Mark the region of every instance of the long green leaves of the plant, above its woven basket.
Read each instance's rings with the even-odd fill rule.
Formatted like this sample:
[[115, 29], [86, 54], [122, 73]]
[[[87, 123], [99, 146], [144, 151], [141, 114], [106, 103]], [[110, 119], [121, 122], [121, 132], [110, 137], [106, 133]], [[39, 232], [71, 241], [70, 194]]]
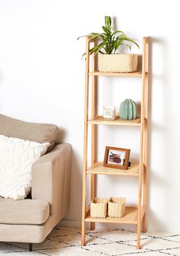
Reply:
[[[126, 45], [131, 50], [131, 45], [126, 44], [126, 42], [136, 44], [136, 46], [139, 48], [139, 45], [136, 43], [136, 41], [127, 38], [126, 34], [124, 34], [123, 31], [112, 31], [110, 16], [105, 16], [105, 26], [103, 26], [102, 28], [103, 33], [90, 33], [79, 37], [89, 37], [90, 40], [100, 38], [97, 46], [90, 49], [90, 54], [115, 54], [121, 45]], [[79, 38], [77, 38], [77, 40]]]

